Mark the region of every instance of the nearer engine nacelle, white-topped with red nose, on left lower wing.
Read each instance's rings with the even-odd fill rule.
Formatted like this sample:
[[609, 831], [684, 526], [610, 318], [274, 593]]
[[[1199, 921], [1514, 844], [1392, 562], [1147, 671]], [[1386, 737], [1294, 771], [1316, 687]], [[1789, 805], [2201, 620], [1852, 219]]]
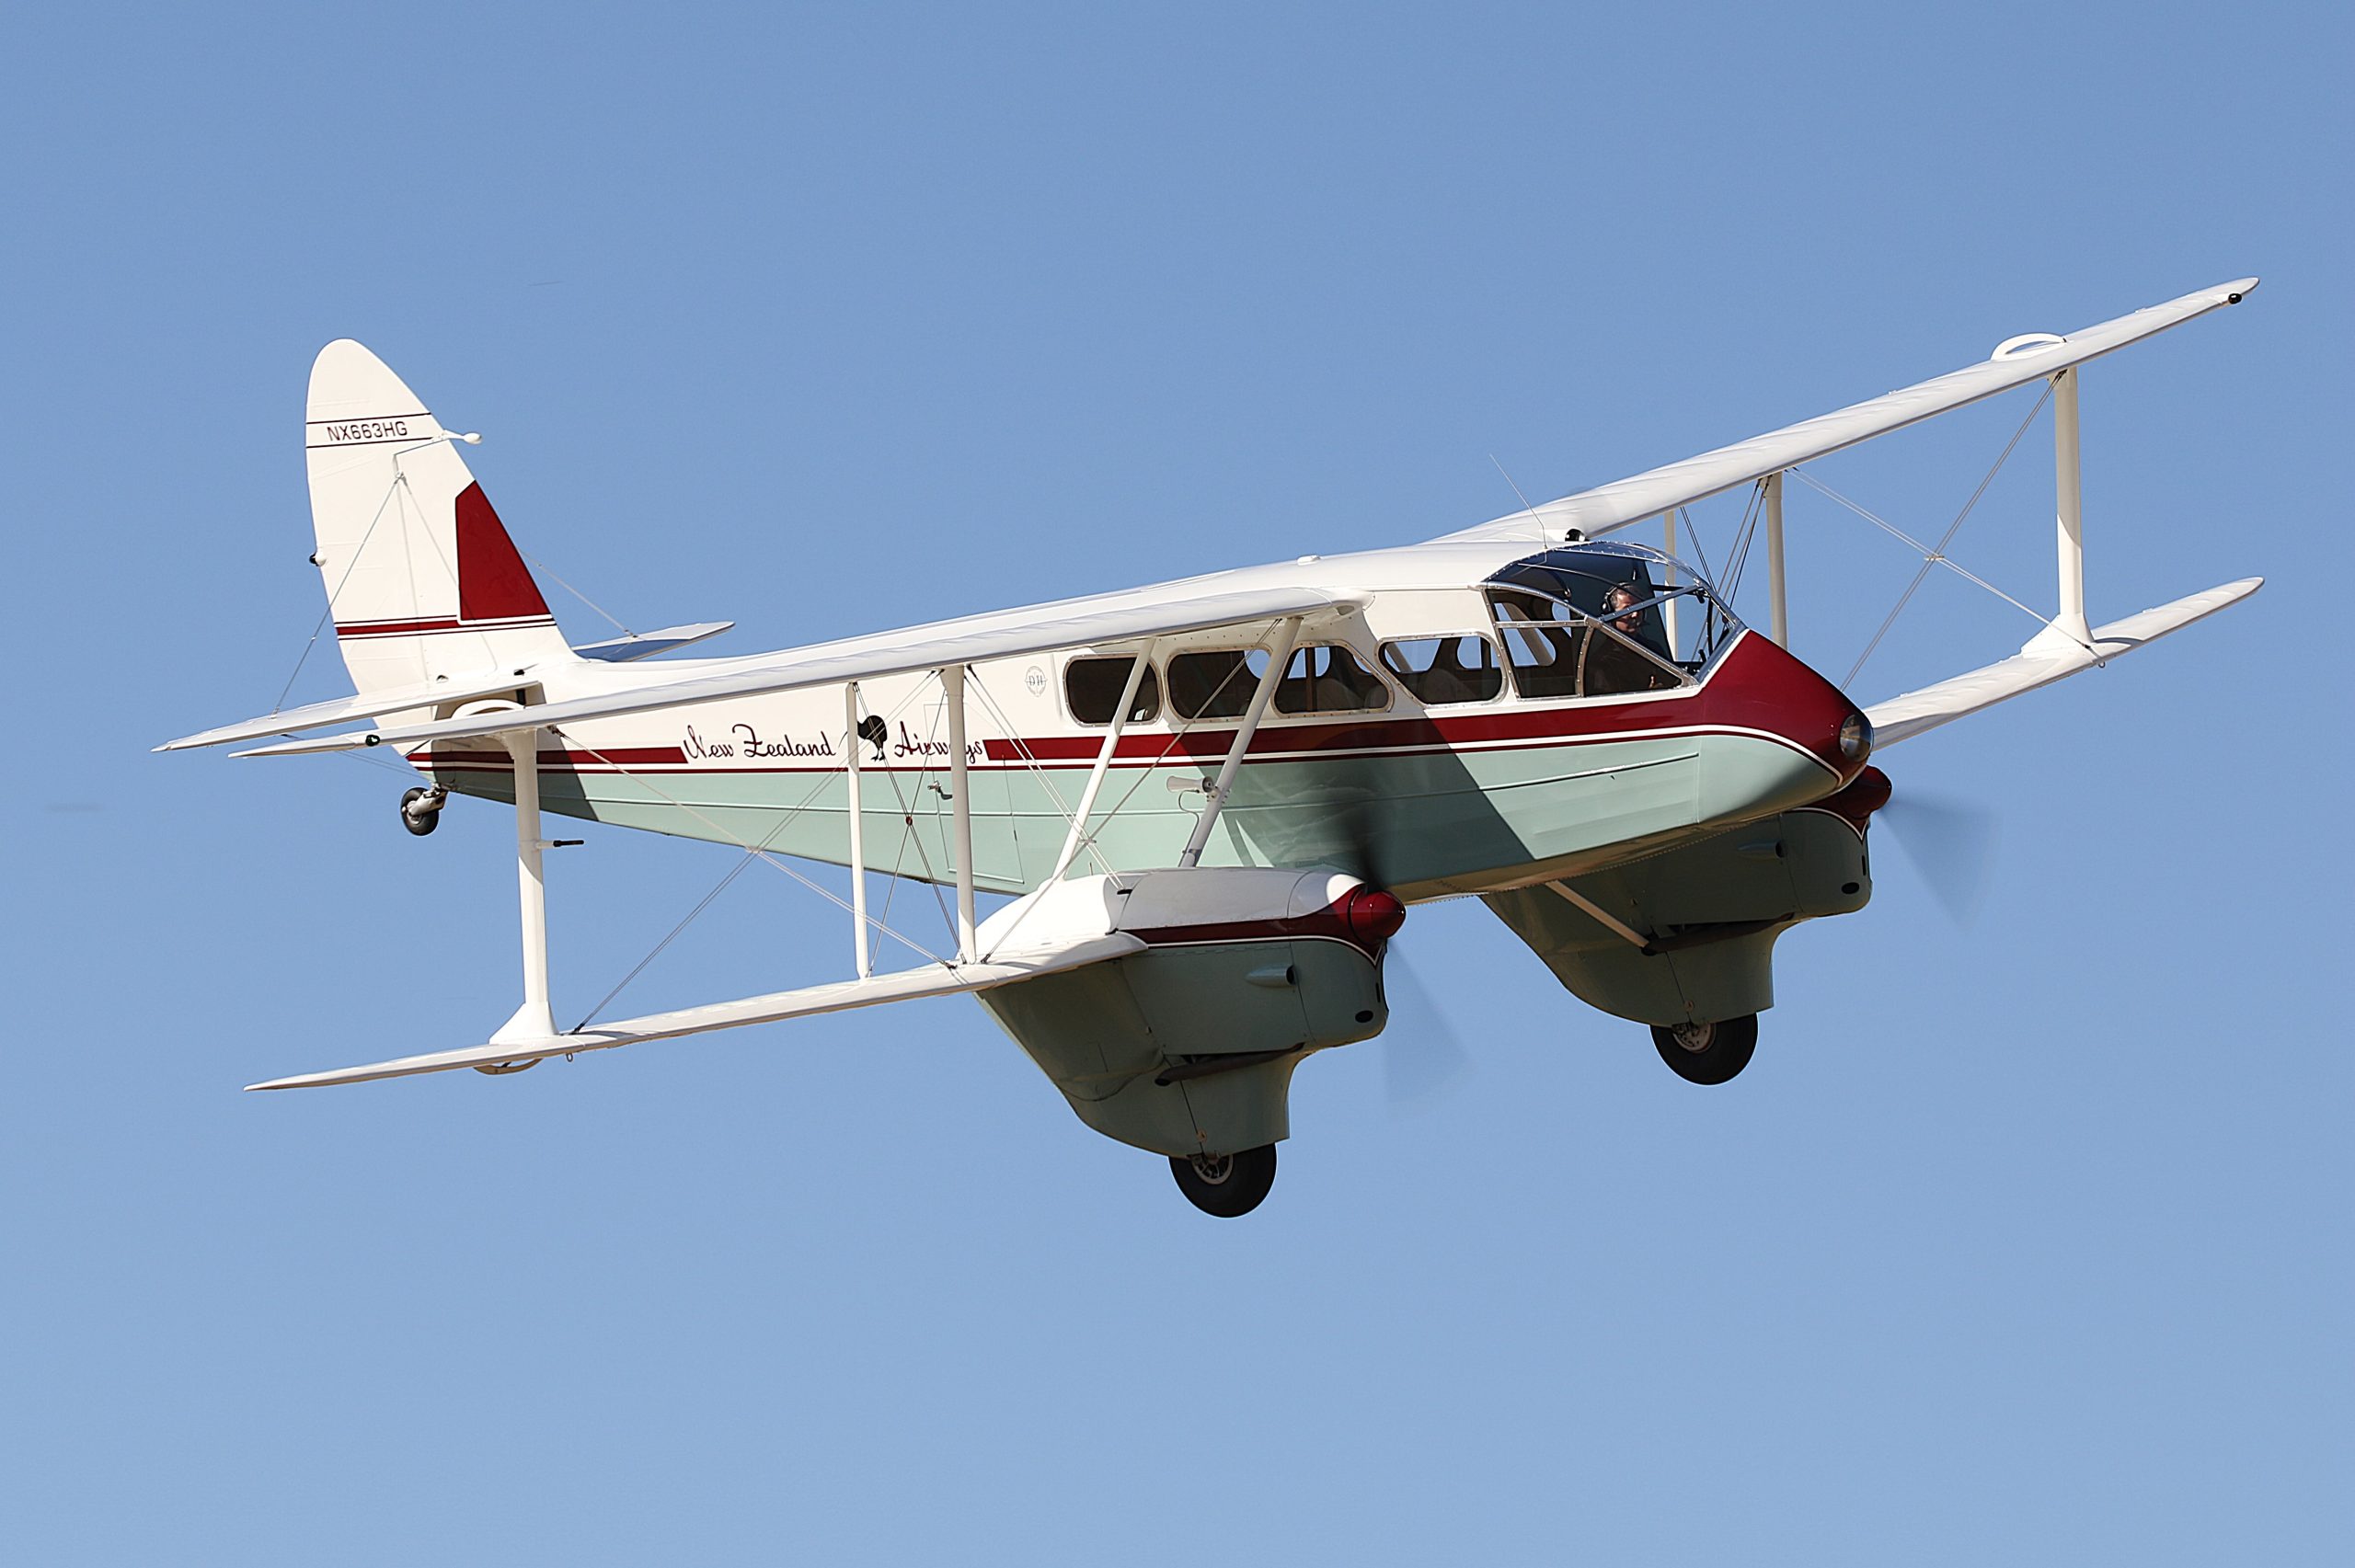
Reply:
[[1236, 1154], [1291, 1130], [1293, 1069], [1389, 1022], [1382, 949], [1406, 906], [1354, 876], [1196, 866], [1086, 876], [1020, 899], [980, 951], [1107, 932], [1145, 951], [980, 994], [1097, 1132]]

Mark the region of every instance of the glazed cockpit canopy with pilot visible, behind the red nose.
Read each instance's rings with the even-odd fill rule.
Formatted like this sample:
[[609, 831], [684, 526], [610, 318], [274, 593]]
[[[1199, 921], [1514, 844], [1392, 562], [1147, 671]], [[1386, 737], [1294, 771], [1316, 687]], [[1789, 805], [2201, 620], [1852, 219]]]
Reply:
[[[1670, 586], [1674, 584], [1674, 586]], [[1646, 544], [1590, 539], [1524, 556], [1486, 582], [1524, 697], [1616, 697], [1689, 685], [1740, 622], [1707, 582]], [[1670, 605], [1684, 605], [1670, 626]], [[1679, 633], [1691, 657], [1679, 657]]]

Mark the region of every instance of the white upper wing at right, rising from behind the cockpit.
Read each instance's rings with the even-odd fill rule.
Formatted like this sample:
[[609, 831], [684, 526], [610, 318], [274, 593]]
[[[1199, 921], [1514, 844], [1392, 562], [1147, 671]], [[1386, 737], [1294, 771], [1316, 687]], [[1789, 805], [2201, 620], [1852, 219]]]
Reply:
[[[1658, 518], [1672, 506], [1689, 506], [1722, 490], [1747, 485], [1750, 480], [1813, 461], [1842, 447], [1853, 447], [1858, 440], [1872, 440], [1875, 436], [1900, 431], [1919, 419], [1957, 410], [1964, 403], [1978, 403], [1981, 398], [1992, 398], [1995, 393], [2011, 391], [2014, 386], [2039, 381], [2056, 370], [2068, 370], [2070, 365], [2082, 365], [2096, 356], [2110, 353], [2112, 348], [2124, 348], [2127, 344], [2141, 341], [2152, 332], [2178, 327], [2195, 315], [2207, 315], [2209, 311], [2240, 304], [2254, 287], [2256, 278], [2242, 278], [2240, 283], [2225, 283], [2214, 290], [2202, 290], [2200, 294], [2169, 299], [2167, 304], [2136, 311], [2134, 315], [2105, 320], [2098, 327], [2087, 327], [2084, 332], [2070, 332], [2058, 341], [2046, 339], [2028, 344], [2014, 353], [1997, 351], [1995, 358], [1978, 365], [1964, 365], [1962, 370], [1943, 374], [1936, 381], [1922, 381], [1919, 386], [1868, 398], [1865, 403], [1856, 403], [1832, 414], [1818, 414], [1816, 419], [1804, 419], [1780, 431], [1738, 440], [1731, 447], [1717, 447], [1714, 452], [1703, 452], [1700, 457], [1686, 457], [1684, 461], [1667, 464], [1665, 469], [1597, 485], [1594, 490], [1580, 490], [1578, 494], [1559, 501], [1517, 511], [1512, 516], [1495, 518], [1493, 523], [1481, 523], [1479, 527], [1467, 527], [1446, 537], [1526, 539], [1543, 530], [1547, 539], [1559, 539], [1573, 527], [1585, 532], [1590, 539], [1594, 534], [1608, 534], [1611, 530], [1627, 527], [1630, 523]], [[2014, 344], [2018, 341], [2021, 339], [2014, 339]]]

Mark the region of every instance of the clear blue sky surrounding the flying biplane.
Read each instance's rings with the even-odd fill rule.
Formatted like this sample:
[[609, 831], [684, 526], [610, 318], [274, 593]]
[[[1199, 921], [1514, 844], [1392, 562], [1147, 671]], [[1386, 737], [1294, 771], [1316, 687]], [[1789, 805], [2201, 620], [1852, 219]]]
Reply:
[[[19, 7], [9, 1556], [2348, 1561], [2348, 24], [1583, 9]], [[1988, 899], [1879, 855], [1729, 1088], [1448, 904], [1477, 1069], [1319, 1057], [1248, 1222], [968, 1003], [238, 1095], [513, 1005], [499, 810], [146, 751], [318, 617], [332, 337], [747, 652], [1429, 537], [1491, 454], [1561, 494], [2242, 273], [2084, 379], [2091, 591], [2270, 586], [1889, 753], [1999, 815]], [[1820, 471], [1938, 530], [2025, 410]], [[2037, 603], [2049, 452], [1957, 544]], [[1912, 563], [1792, 530], [1842, 676]], [[1941, 579], [1856, 692], [2028, 631]], [[730, 859], [568, 852], [560, 1003]], [[754, 873], [631, 1001], [843, 944]]]

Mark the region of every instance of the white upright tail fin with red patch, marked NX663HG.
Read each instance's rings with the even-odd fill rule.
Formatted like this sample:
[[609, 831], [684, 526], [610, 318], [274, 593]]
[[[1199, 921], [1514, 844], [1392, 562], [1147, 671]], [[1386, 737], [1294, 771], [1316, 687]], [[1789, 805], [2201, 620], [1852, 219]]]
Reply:
[[575, 657], [459, 440], [360, 344], [320, 348], [304, 412], [311, 560], [363, 697]]

